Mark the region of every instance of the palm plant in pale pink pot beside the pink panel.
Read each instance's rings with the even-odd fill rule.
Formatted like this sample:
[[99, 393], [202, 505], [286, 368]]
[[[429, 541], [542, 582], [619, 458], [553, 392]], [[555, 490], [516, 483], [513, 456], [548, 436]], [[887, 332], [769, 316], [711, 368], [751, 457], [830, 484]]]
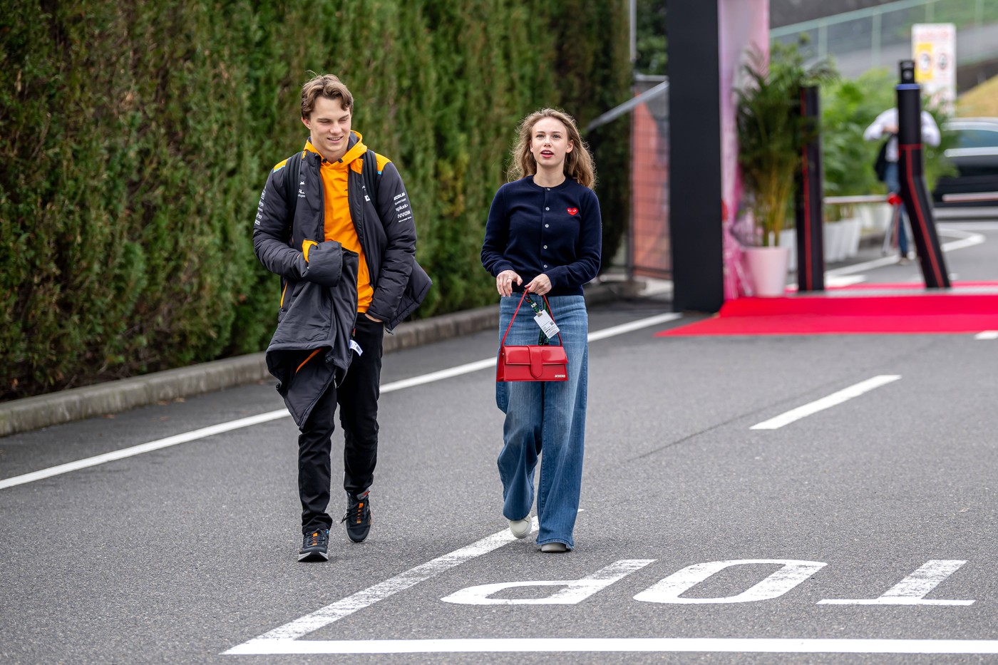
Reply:
[[803, 143], [816, 131], [800, 115], [800, 89], [835, 77], [827, 60], [807, 64], [798, 45], [774, 43], [769, 57], [749, 53], [738, 90], [739, 165], [755, 223], [746, 261], [758, 296], [783, 293], [790, 249], [779, 247]]

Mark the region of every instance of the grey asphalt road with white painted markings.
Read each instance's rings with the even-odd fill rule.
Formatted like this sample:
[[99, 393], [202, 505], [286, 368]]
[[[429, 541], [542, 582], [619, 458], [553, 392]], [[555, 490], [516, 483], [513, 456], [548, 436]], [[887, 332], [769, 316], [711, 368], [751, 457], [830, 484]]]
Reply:
[[[998, 225], [944, 230], [998, 281]], [[654, 336], [697, 320], [669, 312], [590, 312], [567, 554], [501, 514], [494, 332], [385, 357], [373, 528], [325, 563], [269, 382], [0, 439], [0, 661], [998, 659], [995, 335]]]

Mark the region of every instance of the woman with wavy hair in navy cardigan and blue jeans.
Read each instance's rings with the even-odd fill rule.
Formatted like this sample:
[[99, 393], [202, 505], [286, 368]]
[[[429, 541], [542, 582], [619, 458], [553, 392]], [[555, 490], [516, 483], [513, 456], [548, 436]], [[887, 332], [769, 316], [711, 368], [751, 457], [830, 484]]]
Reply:
[[[533, 295], [528, 298], [546, 296], [568, 356], [568, 380], [496, 383], [496, 403], [506, 414], [497, 462], [503, 515], [514, 536], [530, 533], [540, 456], [537, 543], [543, 552], [565, 552], [575, 547], [582, 488], [589, 352], [582, 287], [600, 268], [600, 202], [593, 159], [563, 111], [542, 109], [524, 118], [512, 157], [510, 182], [492, 201], [481, 253], [502, 297], [499, 334], [524, 291]], [[543, 299], [536, 302], [543, 307]], [[507, 344], [538, 342], [530, 314], [516, 317]]]

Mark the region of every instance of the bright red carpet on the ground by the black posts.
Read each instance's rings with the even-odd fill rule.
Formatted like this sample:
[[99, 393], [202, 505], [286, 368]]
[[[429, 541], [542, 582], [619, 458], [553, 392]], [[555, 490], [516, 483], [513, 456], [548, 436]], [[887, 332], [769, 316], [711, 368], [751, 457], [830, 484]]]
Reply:
[[740, 298], [713, 319], [657, 336], [983, 331], [998, 331], [998, 283], [954, 284], [941, 293], [917, 284], [862, 284], [819, 296]]

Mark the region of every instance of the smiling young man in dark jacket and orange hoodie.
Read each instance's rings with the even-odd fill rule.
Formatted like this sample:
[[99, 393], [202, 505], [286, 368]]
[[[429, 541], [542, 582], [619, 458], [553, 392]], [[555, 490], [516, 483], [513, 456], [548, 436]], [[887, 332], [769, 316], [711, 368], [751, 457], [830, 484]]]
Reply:
[[301, 433], [299, 561], [328, 559], [333, 416], [343, 428], [346, 533], [370, 530], [381, 344], [422, 302], [416, 230], [395, 166], [351, 130], [353, 97], [330, 74], [301, 88], [304, 149], [277, 164], [260, 195], [253, 250], [280, 276], [267, 367]]

